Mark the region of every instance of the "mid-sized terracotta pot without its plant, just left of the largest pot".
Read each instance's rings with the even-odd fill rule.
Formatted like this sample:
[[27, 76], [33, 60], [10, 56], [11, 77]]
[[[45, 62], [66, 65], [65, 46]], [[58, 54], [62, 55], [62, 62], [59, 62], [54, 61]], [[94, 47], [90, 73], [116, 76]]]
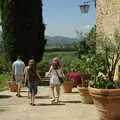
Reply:
[[80, 91], [81, 102], [84, 104], [93, 104], [92, 96], [89, 94], [88, 87], [77, 86]]

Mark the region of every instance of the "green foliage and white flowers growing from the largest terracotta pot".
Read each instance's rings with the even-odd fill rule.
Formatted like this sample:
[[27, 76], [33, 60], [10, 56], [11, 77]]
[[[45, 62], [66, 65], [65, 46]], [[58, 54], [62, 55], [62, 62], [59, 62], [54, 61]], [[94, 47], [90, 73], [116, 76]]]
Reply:
[[[115, 31], [113, 38], [106, 37], [104, 34], [97, 36], [99, 48], [96, 55], [99, 57], [96, 58], [96, 62], [94, 61], [96, 69], [95, 74], [92, 75], [91, 86], [108, 89], [119, 88], [120, 83], [116, 84], [114, 82], [115, 69], [120, 60], [119, 41], [118, 31]], [[102, 75], [99, 75], [100, 73], [102, 73]]]

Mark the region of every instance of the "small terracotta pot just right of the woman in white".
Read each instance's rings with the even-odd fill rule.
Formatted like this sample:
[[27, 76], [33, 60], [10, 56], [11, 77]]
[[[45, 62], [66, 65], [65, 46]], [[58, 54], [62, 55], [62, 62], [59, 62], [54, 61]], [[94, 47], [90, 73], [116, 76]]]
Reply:
[[63, 90], [64, 93], [71, 93], [73, 88], [73, 81], [64, 81]]

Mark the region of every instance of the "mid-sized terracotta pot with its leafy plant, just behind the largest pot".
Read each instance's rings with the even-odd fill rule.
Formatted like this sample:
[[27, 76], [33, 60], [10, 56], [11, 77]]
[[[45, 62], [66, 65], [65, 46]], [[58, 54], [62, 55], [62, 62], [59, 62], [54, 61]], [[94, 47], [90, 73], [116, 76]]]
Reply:
[[88, 91], [88, 83], [91, 76], [91, 55], [82, 56], [79, 60], [79, 66], [76, 67], [80, 71], [81, 84], [77, 85], [80, 92], [81, 102], [84, 104], [92, 104], [93, 100]]

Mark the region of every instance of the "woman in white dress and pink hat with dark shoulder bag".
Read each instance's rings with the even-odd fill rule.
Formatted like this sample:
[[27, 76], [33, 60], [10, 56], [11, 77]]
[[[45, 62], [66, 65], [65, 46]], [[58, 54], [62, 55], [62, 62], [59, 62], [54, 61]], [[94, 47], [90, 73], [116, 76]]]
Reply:
[[[63, 71], [58, 58], [53, 59], [52, 65], [50, 66], [48, 74], [49, 73], [51, 73], [51, 78], [50, 78], [50, 89], [52, 93], [51, 103], [54, 103], [54, 102], [59, 103], [60, 85], [61, 85], [59, 81], [59, 76], [60, 77], [63, 76]], [[57, 93], [56, 97], [55, 97], [54, 89], [56, 89], [56, 93]]]

